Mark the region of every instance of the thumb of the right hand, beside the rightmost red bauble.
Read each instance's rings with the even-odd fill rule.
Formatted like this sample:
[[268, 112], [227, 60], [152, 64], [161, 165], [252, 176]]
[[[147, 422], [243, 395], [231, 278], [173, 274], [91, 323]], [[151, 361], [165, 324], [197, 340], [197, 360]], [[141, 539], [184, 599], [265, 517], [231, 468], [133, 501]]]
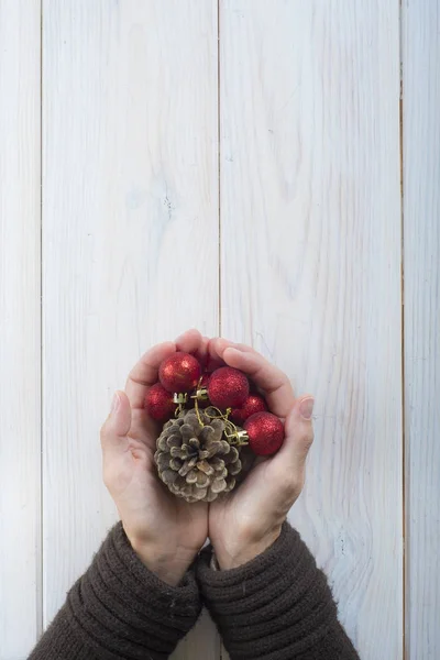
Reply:
[[286, 439], [276, 459], [290, 470], [302, 471], [307, 454], [314, 442], [311, 415], [315, 399], [309, 394], [295, 402], [285, 422]]

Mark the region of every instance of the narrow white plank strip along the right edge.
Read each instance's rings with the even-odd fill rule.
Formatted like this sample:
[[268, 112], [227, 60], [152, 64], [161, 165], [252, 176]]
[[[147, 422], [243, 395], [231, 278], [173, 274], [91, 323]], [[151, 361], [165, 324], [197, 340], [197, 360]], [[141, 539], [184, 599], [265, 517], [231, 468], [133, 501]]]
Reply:
[[406, 647], [440, 657], [440, 9], [403, 3]]

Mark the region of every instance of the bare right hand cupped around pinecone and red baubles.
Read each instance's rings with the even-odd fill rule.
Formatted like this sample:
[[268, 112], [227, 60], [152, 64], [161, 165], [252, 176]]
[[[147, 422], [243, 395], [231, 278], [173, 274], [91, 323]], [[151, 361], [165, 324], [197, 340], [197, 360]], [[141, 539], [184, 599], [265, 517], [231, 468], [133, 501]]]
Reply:
[[224, 339], [209, 342], [212, 360], [222, 360], [248, 374], [264, 394], [270, 410], [285, 419], [280, 450], [257, 459], [243, 483], [209, 507], [209, 537], [220, 568], [232, 569], [261, 554], [278, 538], [282, 525], [305, 480], [307, 452], [314, 441], [314, 399], [295, 400], [286, 374], [250, 346]]

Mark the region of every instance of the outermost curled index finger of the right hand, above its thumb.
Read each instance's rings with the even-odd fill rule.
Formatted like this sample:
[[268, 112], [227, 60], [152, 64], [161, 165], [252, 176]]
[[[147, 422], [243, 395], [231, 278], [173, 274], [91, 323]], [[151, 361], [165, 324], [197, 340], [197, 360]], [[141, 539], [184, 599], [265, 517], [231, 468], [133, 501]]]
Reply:
[[228, 346], [223, 351], [222, 358], [229, 366], [244, 372], [263, 391], [270, 410], [274, 415], [287, 416], [295, 403], [295, 397], [292, 383], [280, 369], [267, 362], [255, 351], [243, 352]]

